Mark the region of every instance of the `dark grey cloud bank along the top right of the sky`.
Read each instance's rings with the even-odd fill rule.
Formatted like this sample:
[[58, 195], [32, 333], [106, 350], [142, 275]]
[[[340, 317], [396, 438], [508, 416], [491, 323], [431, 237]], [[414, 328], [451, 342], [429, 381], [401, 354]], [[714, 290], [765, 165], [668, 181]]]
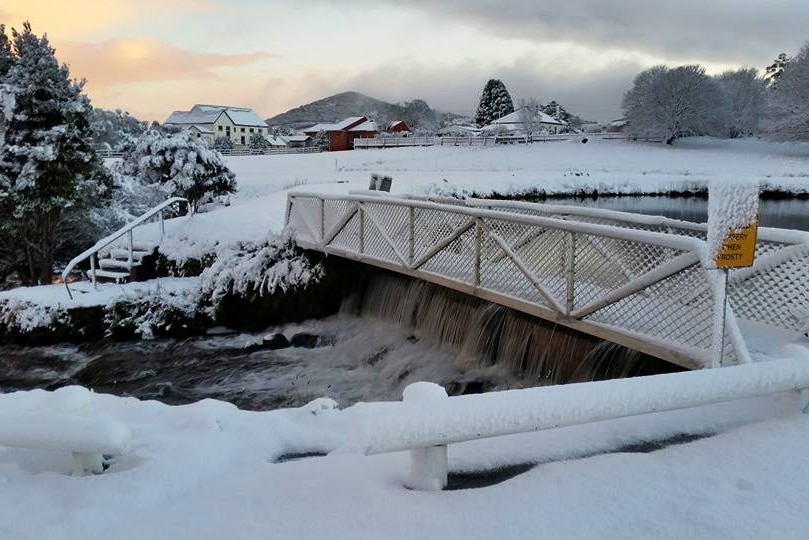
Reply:
[[[359, 0], [355, 0], [359, 1]], [[393, 0], [388, 0], [393, 4]], [[484, 34], [762, 65], [809, 35], [806, 0], [396, 0]]]

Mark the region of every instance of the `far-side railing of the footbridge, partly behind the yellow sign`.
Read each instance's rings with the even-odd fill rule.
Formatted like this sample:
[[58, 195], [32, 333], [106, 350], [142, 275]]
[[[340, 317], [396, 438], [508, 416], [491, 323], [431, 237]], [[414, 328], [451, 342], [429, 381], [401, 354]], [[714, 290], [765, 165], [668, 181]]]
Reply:
[[[706, 223], [660, 216], [520, 201], [467, 199], [465, 202], [475, 208], [690, 236], [703, 241], [708, 236]], [[755, 264], [730, 270], [728, 298], [739, 319], [793, 333], [809, 330], [809, 233], [760, 227]]]

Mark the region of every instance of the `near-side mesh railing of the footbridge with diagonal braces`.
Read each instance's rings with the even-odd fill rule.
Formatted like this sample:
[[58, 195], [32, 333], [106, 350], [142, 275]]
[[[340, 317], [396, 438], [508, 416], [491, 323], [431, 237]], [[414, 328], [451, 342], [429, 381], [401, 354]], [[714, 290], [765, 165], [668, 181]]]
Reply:
[[[365, 195], [291, 193], [299, 245], [459, 290], [687, 367], [749, 361], [694, 237]], [[722, 351], [724, 350], [724, 357]]]

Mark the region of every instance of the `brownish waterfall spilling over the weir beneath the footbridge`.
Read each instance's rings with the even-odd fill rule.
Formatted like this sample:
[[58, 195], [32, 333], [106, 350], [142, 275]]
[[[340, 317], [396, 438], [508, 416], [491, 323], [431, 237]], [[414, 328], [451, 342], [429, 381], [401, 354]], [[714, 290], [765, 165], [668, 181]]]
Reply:
[[464, 367], [501, 365], [532, 385], [676, 371], [657, 358], [425, 281], [374, 272], [343, 311], [438, 342]]

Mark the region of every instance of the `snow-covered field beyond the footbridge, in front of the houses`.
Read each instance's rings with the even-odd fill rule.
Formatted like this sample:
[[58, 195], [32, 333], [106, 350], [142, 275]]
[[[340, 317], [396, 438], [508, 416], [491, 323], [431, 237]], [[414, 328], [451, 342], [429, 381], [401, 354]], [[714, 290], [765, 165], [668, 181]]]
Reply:
[[[291, 190], [367, 189], [371, 173], [393, 177], [394, 194], [442, 195], [530, 189], [549, 193], [658, 193], [713, 179], [809, 191], [809, 144], [695, 138], [674, 146], [627, 141], [556, 141], [487, 148], [417, 147], [227, 158], [239, 192], [231, 206], [168, 223], [164, 252], [179, 260], [216, 244], [260, 240], [283, 227]], [[152, 225], [138, 232], [156, 239]]]

